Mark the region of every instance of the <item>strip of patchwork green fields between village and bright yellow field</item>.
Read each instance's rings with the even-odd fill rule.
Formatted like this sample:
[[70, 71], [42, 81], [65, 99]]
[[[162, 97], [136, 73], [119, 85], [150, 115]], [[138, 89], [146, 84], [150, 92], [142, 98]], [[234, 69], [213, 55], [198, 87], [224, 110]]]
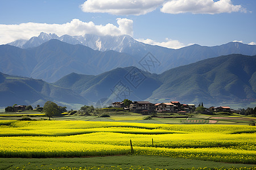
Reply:
[[[102, 109], [103, 111], [103, 109]], [[251, 122], [256, 122], [255, 117], [246, 117], [240, 114], [232, 113], [229, 115], [205, 115], [205, 114], [190, 114], [187, 117], [180, 117], [178, 114], [166, 114], [166, 116], [152, 116], [150, 120], [144, 120], [148, 115], [133, 112], [98, 112], [96, 116], [63, 116], [53, 117], [53, 120], [80, 120], [80, 121], [111, 121], [111, 122], [137, 122], [150, 124], [234, 124], [234, 125], [249, 125]], [[109, 114], [110, 117], [100, 117], [101, 114]], [[186, 116], [186, 115], [185, 115]], [[24, 112], [0, 112], [0, 120], [18, 120], [20, 117], [31, 117], [33, 120], [47, 119], [44, 113], [38, 111]]]

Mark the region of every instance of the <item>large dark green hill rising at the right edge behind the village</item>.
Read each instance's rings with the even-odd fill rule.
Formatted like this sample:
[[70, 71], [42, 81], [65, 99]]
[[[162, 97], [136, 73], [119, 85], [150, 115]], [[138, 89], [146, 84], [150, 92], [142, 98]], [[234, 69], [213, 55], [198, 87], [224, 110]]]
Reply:
[[255, 100], [256, 56], [231, 54], [180, 66], [160, 74], [163, 83], [148, 100], [170, 98], [218, 104]]

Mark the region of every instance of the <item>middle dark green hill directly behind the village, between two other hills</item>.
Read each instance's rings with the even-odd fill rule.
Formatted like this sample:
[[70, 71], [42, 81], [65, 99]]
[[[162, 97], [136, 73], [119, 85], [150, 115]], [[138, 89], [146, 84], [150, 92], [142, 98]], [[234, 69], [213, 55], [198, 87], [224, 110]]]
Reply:
[[[130, 74], [139, 75], [141, 80], [133, 81]], [[101, 99], [119, 101], [127, 97], [133, 100], [143, 100], [150, 97], [161, 83], [156, 74], [147, 73], [136, 67], [125, 67], [96, 76], [72, 73], [64, 76], [55, 84], [71, 88], [86, 99], [96, 102]]]

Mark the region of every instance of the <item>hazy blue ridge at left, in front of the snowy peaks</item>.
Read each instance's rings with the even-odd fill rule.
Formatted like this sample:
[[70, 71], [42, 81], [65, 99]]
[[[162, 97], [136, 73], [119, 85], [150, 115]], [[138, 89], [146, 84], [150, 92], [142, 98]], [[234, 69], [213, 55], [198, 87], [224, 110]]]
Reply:
[[0, 46], [0, 71], [55, 82], [69, 73], [97, 75], [116, 67], [134, 65], [129, 54], [113, 50], [100, 52], [84, 45], [71, 45], [56, 39], [35, 48]]

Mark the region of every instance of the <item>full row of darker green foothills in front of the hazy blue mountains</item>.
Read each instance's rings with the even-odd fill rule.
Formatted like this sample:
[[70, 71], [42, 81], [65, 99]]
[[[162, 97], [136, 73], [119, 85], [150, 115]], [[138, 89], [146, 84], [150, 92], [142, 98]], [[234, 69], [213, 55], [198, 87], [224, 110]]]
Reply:
[[71, 73], [47, 83], [40, 79], [0, 74], [0, 106], [43, 104], [53, 100], [69, 104], [105, 105], [130, 99], [152, 103], [219, 105], [255, 101], [256, 56], [230, 54], [152, 74], [124, 67], [99, 75]]

